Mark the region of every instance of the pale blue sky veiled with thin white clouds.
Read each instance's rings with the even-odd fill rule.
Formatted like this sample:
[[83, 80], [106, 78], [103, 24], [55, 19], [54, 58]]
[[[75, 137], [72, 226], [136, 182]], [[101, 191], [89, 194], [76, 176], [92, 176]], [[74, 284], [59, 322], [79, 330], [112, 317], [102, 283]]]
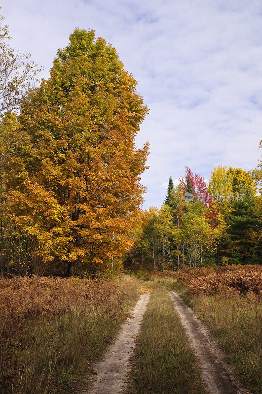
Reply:
[[252, 169], [261, 156], [261, 0], [2, 0], [12, 46], [48, 71], [75, 27], [117, 50], [150, 109], [145, 207], [160, 206], [185, 165]]

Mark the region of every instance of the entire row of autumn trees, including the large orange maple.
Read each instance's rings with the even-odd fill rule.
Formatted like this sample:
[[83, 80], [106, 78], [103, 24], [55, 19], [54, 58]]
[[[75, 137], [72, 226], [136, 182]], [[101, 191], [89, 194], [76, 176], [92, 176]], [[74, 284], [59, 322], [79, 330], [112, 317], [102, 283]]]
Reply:
[[9, 42], [1, 17], [1, 277], [261, 263], [261, 163], [215, 168], [208, 187], [187, 168], [160, 210], [142, 211], [149, 146], [135, 138], [148, 108], [115, 49], [75, 29], [37, 81]]

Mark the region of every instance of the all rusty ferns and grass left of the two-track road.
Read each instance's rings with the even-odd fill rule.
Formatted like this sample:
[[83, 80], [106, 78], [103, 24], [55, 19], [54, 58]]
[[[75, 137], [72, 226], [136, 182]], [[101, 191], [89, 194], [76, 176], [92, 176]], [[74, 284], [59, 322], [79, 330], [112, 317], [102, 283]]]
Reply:
[[[0, 393], [74, 391], [138, 296], [137, 279], [0, 281]], [[81, 380], [81, 379], [80, 379]], [[88, 383], [88, 381], [85, 381]]]

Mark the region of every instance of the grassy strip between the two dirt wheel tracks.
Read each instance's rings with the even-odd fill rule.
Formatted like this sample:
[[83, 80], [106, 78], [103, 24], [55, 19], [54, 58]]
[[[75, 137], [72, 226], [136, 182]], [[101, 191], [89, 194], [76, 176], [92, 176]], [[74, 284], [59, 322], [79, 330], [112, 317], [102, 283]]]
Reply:
[[131, 371], [128, 394], [203, 394], [195, 357], [163, 287], [150, 298]]

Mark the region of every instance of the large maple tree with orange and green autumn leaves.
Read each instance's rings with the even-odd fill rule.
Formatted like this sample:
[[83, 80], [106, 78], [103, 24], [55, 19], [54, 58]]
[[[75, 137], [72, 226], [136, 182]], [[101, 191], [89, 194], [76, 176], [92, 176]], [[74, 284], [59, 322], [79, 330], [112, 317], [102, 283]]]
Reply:
[[119, 260], [131, 242], [148, 155], [148, 144], [135, 147], [148, 112], [136, 84], [111, 45], [76, 29], [21, 107], [20, 129], [34, 149], [11, 177], [11, 208], [17, 222], [28, 217], [41, 237], [51, 234], [48, 247], [68, 276], [76, 263]]

